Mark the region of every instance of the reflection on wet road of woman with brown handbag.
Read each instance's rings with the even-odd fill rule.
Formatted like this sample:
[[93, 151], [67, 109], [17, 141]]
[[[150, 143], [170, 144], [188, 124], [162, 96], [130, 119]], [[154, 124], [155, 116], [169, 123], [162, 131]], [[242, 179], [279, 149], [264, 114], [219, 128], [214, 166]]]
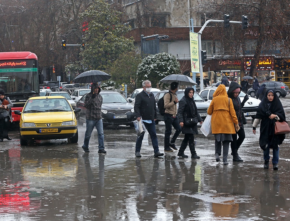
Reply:
[[[264, 171], [263, 190], [260, 193], [261, 204], [261, 218], [268, 217], [270, 219], [277, 219], [280, 215], [286, 215], [280, 211], [286, 211], [285, 199], [280, 195], [280, 179], [278, 173], [273, 173], [273, 188], [270, 188], [271, 180], [269, 178], [269, 171]], [[289, 220], [288, 218], [281, 220]]]

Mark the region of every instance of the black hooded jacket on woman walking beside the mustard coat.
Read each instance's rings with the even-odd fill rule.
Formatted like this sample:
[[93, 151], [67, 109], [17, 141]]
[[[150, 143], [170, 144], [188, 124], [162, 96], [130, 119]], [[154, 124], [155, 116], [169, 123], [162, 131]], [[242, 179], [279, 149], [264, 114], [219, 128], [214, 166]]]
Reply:
[[233, 91], [236, 90], [237, 88], [240, 88], [242, 90], [242, 87], [238, 83], [232, 81], [227, 94], [228, 94], [229, 98], [231, 98], [233, 101], [233, 106], [234, 106], [235, 113], [236, 113], [236, 116], [237, 116], [238, 121], [239, 121], [239, 126], [241, 128], [244, 128], [244, 125], [243, 125], [243, 114], [244, 113], [242, 112], [242, 107], [244, 107], [247, 99], [245, 100], [245, 98], [244, 98], [244, 100], [241, 102], [239, 96], [238, 97], [233, 96]]

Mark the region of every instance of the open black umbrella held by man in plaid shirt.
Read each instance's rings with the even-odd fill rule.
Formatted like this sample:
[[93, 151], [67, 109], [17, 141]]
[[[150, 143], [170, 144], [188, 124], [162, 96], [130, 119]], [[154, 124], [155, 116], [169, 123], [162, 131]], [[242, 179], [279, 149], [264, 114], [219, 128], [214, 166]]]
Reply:
[[85, 71], [73, 79], [74, 83], [95, 83], [99, 81], [106, 81], [111, 76], [107, 73], [99, 70]]

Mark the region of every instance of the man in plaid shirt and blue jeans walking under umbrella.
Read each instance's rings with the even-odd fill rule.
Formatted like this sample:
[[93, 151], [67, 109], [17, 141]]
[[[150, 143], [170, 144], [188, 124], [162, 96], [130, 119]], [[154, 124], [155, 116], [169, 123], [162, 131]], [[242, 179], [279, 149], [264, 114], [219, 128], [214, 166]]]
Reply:
[[82, 148], [85, 152], [89, 151], [89, 141], [94, 127], [96, 127], [98, 132], [98, 143], [99, 151], [98, 153], [105, 154], [104, 147], [104, 130], [103, 130], [103, 120], [102, 120], [102, 103], [103, 98], [100, 95], [101, 88], [97, 83], [93, 83], [91, 87], [91, 92], [86, 96], [84, 106], [86, 107], [86, 133], [84, 139], [84, 145]]

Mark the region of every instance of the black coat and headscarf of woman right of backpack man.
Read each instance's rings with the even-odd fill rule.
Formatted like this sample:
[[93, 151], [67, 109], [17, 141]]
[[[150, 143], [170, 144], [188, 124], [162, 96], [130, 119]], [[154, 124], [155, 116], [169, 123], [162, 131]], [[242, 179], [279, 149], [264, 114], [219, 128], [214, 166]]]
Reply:
[[[202, 121], [202, 118], [200, 117], [200, 115], [197, 111], [197, 107], [195, 105], [195, 102], [192, 100], [191, 101], [192, 103], [189, 104], [190, 98], [188, 96], [188, 93], [192, 89], [193, 88], [191, 88], [191, 87], [187, 87], [184, 91], [184, 96], [178, 102], [177, 117], [178, 117], [179, 122], [184, 123], [184, 118], [193, 118], [193, 117], [197, 117], [197, 122]], [[198, 134], [197, 125], [190, 127], [190, 126], [186, 126], [185, 124], [183, 124], [181, 131], [182, 131], [182, 134]]]

